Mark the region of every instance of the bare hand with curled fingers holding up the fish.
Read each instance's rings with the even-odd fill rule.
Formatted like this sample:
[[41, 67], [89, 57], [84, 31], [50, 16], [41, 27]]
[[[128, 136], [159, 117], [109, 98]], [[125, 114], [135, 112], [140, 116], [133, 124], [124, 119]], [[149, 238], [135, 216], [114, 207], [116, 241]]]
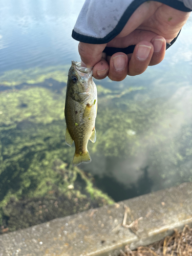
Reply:
[[[93, 76], [121, 81], [126, 75], [143, 73], [157, 65], [165, 55], [166, 42], [172, 41], [186, 23], [190, 12], [182, 12], [159, 2], [145, 2], [132, 14], [123, 30], [108, 44], [92, 45], [79, 42], [81, 65], [94, 67]], [[133, 54], [118, 52], [112, 56], [104, 48], [126, 48], [136, 45]]]

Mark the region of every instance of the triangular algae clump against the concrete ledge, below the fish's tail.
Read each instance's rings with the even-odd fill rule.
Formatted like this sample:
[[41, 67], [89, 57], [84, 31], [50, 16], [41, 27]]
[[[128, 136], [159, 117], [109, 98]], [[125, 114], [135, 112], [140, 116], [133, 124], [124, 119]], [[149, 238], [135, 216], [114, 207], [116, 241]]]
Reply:
[[47, 193], [35, 193], [32, 197], [20, 200], [12, 196], [2, 207], [4, 228], [8, 226], [9, 231], [14, 231], [76, 214], [91, 207], [114, 203], [107, 195], [94, 188], [91, 178], [79, 168], [70, 169], [59, 159], [52, 164], [55, 177], [52, 175], [52, 179], [46, 181], [46, 186], [49, 187], [46, 189]]

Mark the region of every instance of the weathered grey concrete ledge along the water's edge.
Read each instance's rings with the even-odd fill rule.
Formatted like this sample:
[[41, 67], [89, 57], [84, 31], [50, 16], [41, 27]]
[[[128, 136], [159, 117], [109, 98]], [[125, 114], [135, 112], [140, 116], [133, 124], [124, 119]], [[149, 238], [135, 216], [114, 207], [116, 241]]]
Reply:
[[[127, 222], [122, 226], [124, 205]], [[142, 217], [142, 218], [141, 218]], [[133, 222], [135, 220], [135, 222]], [[117, 256], [192, 223], [192, 183], [0, 236], [0, 256]]]

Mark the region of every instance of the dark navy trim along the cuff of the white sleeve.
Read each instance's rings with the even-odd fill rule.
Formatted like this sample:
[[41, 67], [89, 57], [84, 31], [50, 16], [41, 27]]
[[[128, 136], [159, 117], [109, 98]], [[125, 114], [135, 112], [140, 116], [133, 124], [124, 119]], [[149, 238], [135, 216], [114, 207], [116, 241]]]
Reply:
[[[162, 4], [168, 5], [170, 7], [173, 7], [177, 10], [183, 11], [183, 12], [190, 12], [191, 10], [184, 6], [184, 4], [178, 0], [153, 0], [156, 2], [160, 2]], [[125, 24], [127, 23], [127, 20], [131, 17], [131, 15], [134, 13], [134, 11], [144, 2], [147, 2], [147, 0], [134, 0], [130, 6], [125, 10], [122, 17], [119, 20], [119, 23], [114, 28], [113, 31], [111, 31], [108, 35], [106, 35], [103, 38], [95, 38], [92, 36], [85, 36], [78, 34], [74, 30], [72, 31], [72, 37], [80, 42], [86, 42], [87, 44], [106, 44], [107, 42], [111, 41], [115, 36], [117, 36], [121, 30], [124, 28]], [[177, 37], [176, 37], [177, 38]], [[167, 49], [167, 48], [166, 48]]]

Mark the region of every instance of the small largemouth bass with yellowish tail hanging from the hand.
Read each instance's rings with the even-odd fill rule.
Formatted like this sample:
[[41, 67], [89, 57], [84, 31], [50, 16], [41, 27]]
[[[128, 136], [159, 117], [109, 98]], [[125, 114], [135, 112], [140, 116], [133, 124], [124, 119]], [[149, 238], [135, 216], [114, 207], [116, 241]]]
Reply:
[[96, 141], [97, 88], [92, 79], [93, 68], [83, 68], [72, 61], [68, 74], [65, 118], [66, 144], [75, 142], [73, 165], [91, 162], [87, 145]]

